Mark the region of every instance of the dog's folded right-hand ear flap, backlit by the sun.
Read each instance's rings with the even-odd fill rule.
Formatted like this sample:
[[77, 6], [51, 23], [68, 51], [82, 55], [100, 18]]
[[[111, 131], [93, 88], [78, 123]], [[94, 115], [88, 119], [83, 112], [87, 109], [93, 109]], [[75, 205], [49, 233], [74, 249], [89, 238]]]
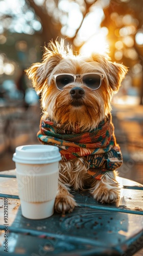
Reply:
[[108, 78], [109, 86], [117, 93], [123, 78], [128, 72], [128, 68], [123, 64], [108, 61], [106, 66], [106, 75]]

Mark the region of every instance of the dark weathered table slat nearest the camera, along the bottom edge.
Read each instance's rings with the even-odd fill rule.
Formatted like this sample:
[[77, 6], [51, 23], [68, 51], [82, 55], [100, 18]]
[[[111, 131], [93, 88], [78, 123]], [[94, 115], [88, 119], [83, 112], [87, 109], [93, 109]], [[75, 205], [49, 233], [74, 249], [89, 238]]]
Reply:
[[[2, 234], [3, 235], [3, 234]], [[29, 243], [30, 241], [30, 243]], [[9, 234], [9, 247], [11, 256], [39, 256], [39, 255], [120, 255], [114, 248], [100, 247], [87, 241], [78, 241], [74, 239], [60, 238], [39, 238], [21, 233], [11, 232]], [[1, 256], [3, 249], [0, 247]]]

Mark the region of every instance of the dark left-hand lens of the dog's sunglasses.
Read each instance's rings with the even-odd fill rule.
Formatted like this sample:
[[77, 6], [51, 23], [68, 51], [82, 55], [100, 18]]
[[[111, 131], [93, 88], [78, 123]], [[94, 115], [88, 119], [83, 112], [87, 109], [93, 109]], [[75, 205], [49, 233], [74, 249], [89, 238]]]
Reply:
[[70, 82], [74, 82], [74, 76], [61, 74], [56, 77], [56, 84], [59, 90], [63, 90], [63, 88]]

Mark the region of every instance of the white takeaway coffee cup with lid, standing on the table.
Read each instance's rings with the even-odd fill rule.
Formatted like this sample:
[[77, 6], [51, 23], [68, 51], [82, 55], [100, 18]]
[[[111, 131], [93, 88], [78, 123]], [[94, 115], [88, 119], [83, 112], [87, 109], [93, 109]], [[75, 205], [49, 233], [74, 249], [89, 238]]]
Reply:
[[54, 213], [59, 160], [56, 146], [26, 145], [16, 147], [16, 165], [22, 215], [28, 219], [44, 219]]

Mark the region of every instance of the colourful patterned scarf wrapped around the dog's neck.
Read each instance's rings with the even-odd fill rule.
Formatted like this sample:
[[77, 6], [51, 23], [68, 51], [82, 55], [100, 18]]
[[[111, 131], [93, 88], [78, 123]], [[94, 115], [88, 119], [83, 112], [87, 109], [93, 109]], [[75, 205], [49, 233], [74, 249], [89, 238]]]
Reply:
[[64, 125], [43, 116], [37, 137], [43, 144], [58, 146], [62, 161], [85, 157], [90, 166], [88, 174], [98, 180], [122, 165], [122, 153], [116, 144], [110, 114], [92, 131], [80, 133], [78, 130], [73, 131], [70, 127], [65, 130]]

